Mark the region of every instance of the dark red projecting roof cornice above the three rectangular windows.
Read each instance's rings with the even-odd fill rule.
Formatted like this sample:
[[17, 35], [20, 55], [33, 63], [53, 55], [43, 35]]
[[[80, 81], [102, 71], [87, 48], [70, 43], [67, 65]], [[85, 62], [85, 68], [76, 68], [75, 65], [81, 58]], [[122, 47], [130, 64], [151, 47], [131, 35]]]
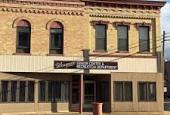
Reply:
[[86, 6], [160, 10], [165, 2], [146, 0], [82, 0]]

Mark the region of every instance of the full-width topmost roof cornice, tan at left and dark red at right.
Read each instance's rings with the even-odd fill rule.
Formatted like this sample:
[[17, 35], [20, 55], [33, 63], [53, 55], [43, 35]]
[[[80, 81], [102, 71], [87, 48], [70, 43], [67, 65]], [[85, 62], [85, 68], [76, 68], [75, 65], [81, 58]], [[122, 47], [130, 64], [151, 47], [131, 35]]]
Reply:
[[165, 4], [164, 1], [146, 1], [146, 0], [0, 0], [1, 3], [12, 3], [22, 5], [39, 5], [55, 7], [74, 7], [82, 8], [84, 6], [92, 7], [110, 7], [110, 8], [128, 8], [160, 10]]

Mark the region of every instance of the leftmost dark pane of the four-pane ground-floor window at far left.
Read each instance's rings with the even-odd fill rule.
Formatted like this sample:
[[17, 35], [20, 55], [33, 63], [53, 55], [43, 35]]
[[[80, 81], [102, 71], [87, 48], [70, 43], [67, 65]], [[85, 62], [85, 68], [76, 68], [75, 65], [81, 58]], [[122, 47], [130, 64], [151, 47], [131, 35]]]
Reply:
[[7, 102], [8, 81], [2, 81], [2, 102]]

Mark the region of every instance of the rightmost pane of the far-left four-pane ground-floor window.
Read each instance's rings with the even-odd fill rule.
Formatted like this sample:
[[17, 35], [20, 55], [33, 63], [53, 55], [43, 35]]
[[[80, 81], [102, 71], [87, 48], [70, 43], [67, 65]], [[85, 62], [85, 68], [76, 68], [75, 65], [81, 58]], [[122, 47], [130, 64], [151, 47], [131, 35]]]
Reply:
[[33, 81], [28, 82], [28, 101], [29, 102], [34, 101], [34, 82]]

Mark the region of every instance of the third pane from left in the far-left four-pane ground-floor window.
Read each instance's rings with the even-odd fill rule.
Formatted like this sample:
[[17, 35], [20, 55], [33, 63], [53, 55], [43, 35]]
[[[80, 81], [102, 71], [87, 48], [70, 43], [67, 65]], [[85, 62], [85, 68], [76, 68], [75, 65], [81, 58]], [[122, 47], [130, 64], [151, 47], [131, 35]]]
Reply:
[[20, 81], [20, 91], [19, 91], [19, 101], [20, 102], [25, 102], [25, 86], [26, 83], [25, 81]]

